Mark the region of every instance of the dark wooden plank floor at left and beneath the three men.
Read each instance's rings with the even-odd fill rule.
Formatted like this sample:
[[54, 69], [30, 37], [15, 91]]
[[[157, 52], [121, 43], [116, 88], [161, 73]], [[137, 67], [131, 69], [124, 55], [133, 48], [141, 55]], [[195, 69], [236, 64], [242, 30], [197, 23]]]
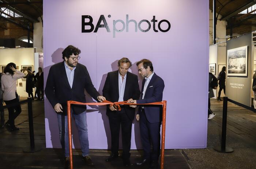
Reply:
[[[24, 99], [24, 98], [23, 98]], [[33, 101], [34, 134], [35, 147], [41, 147], [41, 151], [36, 153], [23, 153], [30, 147], [29, 123], [27, 115], [27, 104], [21, 105], [22, 113], [15, 120], [15, 124], [20, 127], [17, 132], [9, 132], [6, 128], [0, 129], [0, 169], [57, 169], [64, 168], [63, 151], [61, 149], [45, 148], [45, 119], [44, 104], [42, 101]], [[5, 120], [8, 119], [8, 111], [5, 110]], [[148, 166], [136, 167], [133, 164], [123, 167], [123, 161], [118, 158], [114, 162], [105, 162], [110, 155], [108, 150], [90, 150], [91, 157], [96, 164], [94, 167], [84, 165], [81, 159], [81, 152], [74, 150], [74, 169], [146, 169]], [[131, 151], [131, 163], [140, 160], [142, 151]], [[159, 160], [160, 161], [160, 160]], [[189, 169], [181, 150], [165, 151], [165, 168]]]

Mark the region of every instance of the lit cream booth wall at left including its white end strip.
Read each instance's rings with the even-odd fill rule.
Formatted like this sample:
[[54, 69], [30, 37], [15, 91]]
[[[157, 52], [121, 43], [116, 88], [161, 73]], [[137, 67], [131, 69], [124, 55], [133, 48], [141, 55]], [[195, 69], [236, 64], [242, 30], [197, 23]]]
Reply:
[[[30, 68], [32, 71], [38, 72], [38, 53], [34, 48], [10, 48], [0, 49], [0, 72], [4, 72], [4, 68], [10, 62], [16, 64], [17, 70]], [[27, 74], [27, 72], [24, 72]], [[20, 97], [28, 97], [26, 92], [26, 78], [17, 80], [17, 93]], [[33, 88], [33, 92], [35, 89]]]

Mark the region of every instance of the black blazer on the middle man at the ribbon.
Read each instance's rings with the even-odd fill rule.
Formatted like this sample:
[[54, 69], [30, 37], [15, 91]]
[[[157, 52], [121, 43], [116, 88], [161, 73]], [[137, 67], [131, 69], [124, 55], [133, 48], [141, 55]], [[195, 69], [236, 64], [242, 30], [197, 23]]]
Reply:
[[[106, 100], [116, 102], [119, 99], [119, 88], [118, 88], [118, 70], [109, 72], [103, 87], [103, 96]], [[127, 72], [125, 90], [124, 90], [124, 101], [128, 99], [137, 100], [140, 97], [139, 81], [136, 74]], [[130, 120], [134, 119], [135, 108], [124, 105], [124, 110]], [[111, 116], [116, 111], [111, 111], [109, 105], [107, 106], [106, 114]]]

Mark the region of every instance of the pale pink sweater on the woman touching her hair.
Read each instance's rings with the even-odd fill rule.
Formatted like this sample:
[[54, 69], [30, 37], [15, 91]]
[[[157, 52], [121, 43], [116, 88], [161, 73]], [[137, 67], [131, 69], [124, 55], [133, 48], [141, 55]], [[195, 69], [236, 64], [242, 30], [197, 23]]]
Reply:
[[16, 70], [13, 76], [8, 72], [2, 75], [2, 91], [4, 91], [3, 100], [12, 100], [16, 98], [16, 80], [22, 77], [25, 77], [25, 74], [20, 72], [19, 70]]

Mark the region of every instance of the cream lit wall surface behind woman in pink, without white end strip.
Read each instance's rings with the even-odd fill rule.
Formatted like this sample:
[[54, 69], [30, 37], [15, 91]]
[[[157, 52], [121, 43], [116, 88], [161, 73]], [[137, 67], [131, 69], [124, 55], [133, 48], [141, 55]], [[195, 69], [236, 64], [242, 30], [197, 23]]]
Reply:
[[[22, 65], [33, 65], [34, 70], [34, 48], [0, 49], [0, 65], [7, 65], [10, 62], [14, 62], [16, 66], [19, 66], [19, 70]], [[20, 87], [20, 83], [22, 83], [22, 87]], [[28, 96], [26, 81], [18, 80], [17, 93], [20, 97]]]

